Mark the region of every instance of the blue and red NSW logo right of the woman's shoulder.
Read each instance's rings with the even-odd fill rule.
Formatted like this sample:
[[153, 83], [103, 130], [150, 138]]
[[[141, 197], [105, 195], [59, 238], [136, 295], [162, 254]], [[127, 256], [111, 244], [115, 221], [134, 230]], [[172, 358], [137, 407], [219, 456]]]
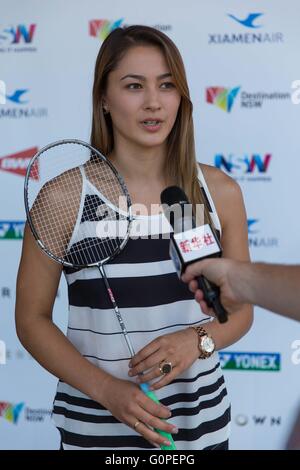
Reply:
[[271, 153], [236, 156], [233, 154], [215, 155], [215, 167], [228, 173], [236, 181], [272, 181], [269, 175]]

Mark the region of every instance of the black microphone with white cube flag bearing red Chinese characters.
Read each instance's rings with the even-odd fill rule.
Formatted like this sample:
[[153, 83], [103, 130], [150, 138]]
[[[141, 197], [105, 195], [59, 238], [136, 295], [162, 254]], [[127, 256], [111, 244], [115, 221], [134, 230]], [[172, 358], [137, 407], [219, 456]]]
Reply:
[[[169, 186], [162, 191], [160, 200], [165, 216], [174, 230], [170, 240], [170, 257], [179, 278], [189, 264], [205, 258], [222, 256], [222, 248], [214, 229], [209, 224], [204, 224], [204, 211], [202, 211], [202, 224], [197, 226], [198, 217], [195, 218], [193, 206], [181, 188]], [[198, 216], [198, 207], [196, 212]], [[225, 323], [228, 316], [220, 302], [219, 287], [202, 275], [197, 281], [208, 307], [214, 310], [220, 323]]]

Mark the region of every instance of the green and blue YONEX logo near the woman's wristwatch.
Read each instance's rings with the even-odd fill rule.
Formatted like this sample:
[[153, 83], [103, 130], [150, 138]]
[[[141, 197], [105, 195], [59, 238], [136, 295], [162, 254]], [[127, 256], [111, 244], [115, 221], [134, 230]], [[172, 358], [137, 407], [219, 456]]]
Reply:
[[225, 370], [246, 370], [279, 372], [281, 356], [279, 353], [221, 352], [220, 362]]

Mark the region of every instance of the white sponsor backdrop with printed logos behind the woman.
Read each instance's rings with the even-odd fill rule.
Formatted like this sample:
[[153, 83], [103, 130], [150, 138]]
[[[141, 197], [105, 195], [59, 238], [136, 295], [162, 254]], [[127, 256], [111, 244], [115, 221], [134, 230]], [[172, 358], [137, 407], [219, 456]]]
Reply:
[[[22, 348], [14, 327], [24, 169], [51, 141], [89, 139], [105, 34], [118, 23], [147, 24], [175, 41], [194, 103], [198, 160], [240, 183], [252, 259], [297, 263], [300, 105], [291, 84], [300, 79], [299, 17], [299, 0], [1, 0], [0, 449], [59, 445], [49, 416], [56, 379]], [[67, 313], [62, 281], [55, 304], [62, 328]], [[286, 447], [300, 407], [299, 340], [299, 324], [257, 308], [251, 332], [222, 352], [232, 449]]]

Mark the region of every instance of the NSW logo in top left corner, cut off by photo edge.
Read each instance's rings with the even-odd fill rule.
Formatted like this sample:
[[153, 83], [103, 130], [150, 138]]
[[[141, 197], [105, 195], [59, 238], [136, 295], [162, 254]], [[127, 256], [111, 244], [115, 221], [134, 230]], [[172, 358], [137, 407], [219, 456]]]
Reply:
[[32, 46], [36, 26], [36, 24], [0, 25], [0, 53], [36, 52], [36, 47]]

